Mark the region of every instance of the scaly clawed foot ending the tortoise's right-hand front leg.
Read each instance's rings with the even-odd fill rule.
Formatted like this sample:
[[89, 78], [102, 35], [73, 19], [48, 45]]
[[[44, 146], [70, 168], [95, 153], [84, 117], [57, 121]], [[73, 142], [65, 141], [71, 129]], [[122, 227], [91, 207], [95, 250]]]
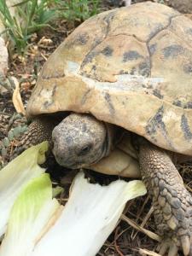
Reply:
[[192, 255], [192, 198], [182, 184], [176, 183], [169, 194], [159, 195], [154, 201], [154, 219], [163, 237], [161, 255], [175, 256], [179, 249], [184, 255]]

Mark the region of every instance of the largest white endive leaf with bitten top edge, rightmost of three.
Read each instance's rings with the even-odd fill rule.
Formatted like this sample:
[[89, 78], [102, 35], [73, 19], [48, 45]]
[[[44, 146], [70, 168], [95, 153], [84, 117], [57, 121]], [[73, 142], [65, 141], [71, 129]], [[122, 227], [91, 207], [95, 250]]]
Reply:
[[144, 195], [141, 181], [118, 180], [108, 186], [91, 184], [81, 172], [75, 177], [66, 207], [32, 256], [94, 256], [113, 231], [126, 201]]

